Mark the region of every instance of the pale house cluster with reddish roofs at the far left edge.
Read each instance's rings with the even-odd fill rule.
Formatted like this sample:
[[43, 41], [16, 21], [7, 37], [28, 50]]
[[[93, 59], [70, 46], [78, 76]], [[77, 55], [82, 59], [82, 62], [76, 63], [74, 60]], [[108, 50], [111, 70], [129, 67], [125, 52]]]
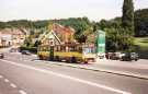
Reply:
[[0, 30], [0, 46], [20, 47], [25, 40], [26, 32], [20, 28]]

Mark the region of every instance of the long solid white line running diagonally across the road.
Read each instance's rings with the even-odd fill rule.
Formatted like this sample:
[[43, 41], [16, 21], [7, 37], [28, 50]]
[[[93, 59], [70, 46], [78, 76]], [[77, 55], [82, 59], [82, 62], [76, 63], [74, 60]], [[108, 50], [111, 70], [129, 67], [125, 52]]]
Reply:
[[8, 60], [1, 60], [1, 61], [11, 63], [11, 64], [14, 64], [14, 66], [18, 66], [18, 67], [22, 67], [22, 68], [35, 70], [35, 71], [39, 71], [39, 72], [43, 72], [43, 73], [53, 74], [53, 75], [65, 78], [65, 79], [70, 79], [72, 81], [77, 81], [77, 82], [80, 82], [80, 83], [84, 83], [84, 84], [89, 84], [89, 85], [92, 85], [92, 86], [101, 87], [101, 89], [104, 89], [104, 90], [107, 90], [107, 91], [112, 91], [112, 92], [115, 92], [115, 93], [119, 93], [119, 94], [132, 94], [129, 92], [125, 92], [125, 91], [121, 91], [121, 90], [117, 90], [117, 89], [109, 87], [109, 86], [105, 86], [105, 85], [102, 85], [102, 84], [98, 84], [98, 83], [94, 83], [94, 82], [81, 80], [81, 79], [73, 78], [73, 77], [70, 77], [70, 75], [60, 74], [60, 73], [56, 73], [56, 72], [53, 72], [53, 71], [38, 69], [38, 68], [35, 68], [35, 67], [31, 67], [31, 66], [26, 66], [26, 64], [22, 64], [22, 63], [16, 63], [16, 62], [13, 62], [13, 61], [8, 61]]

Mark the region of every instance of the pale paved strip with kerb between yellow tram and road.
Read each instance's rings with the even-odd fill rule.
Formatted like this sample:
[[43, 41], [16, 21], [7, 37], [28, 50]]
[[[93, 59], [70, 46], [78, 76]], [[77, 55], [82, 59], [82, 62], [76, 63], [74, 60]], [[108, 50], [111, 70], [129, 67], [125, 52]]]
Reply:
[[57, 66], [66, 66], [92, 71], [101, 71], [118, 75], [139, 78], [148, 80], [148, 60], [139, 61], [117, 61], [117, 60], [98, 60], [88, 64], [44, 61]]

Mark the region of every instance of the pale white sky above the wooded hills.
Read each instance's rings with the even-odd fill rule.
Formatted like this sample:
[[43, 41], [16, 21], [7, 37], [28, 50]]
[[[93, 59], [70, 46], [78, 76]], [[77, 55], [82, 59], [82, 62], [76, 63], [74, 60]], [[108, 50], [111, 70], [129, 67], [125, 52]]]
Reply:
[[[0, 0], [0, 21], [88, 16], [91, 21], [122, 15], [123, 0]], [[135, 10], [148, 0], [134, 0]]]

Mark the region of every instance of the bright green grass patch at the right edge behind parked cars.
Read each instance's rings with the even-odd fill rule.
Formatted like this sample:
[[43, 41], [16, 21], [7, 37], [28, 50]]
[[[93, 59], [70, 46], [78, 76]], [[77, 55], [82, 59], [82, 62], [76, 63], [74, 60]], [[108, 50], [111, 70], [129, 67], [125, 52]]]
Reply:
[[148, 37], [136, 37], [135, 45], [138, 45], [140, 50], [148, 50]]

